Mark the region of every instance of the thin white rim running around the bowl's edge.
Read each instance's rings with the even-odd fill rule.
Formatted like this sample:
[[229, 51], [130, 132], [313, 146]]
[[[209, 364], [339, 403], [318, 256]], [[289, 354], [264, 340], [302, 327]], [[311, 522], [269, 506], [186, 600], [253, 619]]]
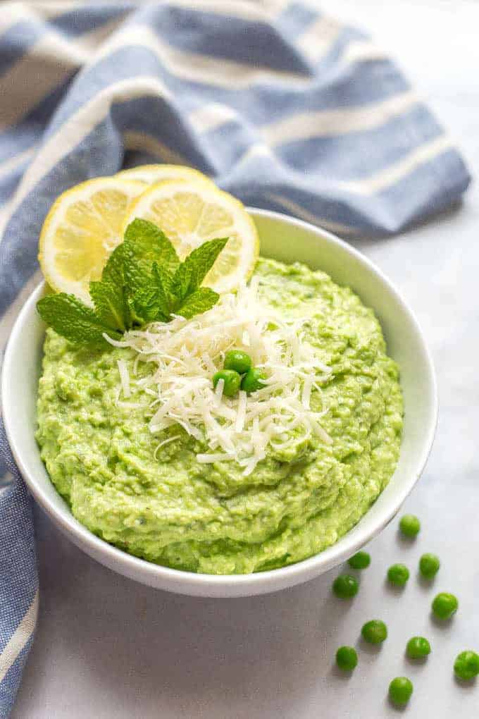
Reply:
[[[284, 587], [306, 582], [307, 580], [310, 580], [313, 577], [327, 571], [327, 569], [335, 567], [345, 561], [345, 559], [348, 559], [355, 553], [355, 551], [358, 551], [361, 546], [364, 546], [364, 544], [376, 536], [387, 524], [389, 524], [394, 516], [396, 516], [396, 513], [398, 513], [401, 505], [404, 503], [404, 500], [409, 493], [411, 493], [411, 490], [424, 469], [424, 465], [426, 464], [429, 453], [432, 449], [432, 443], [437, 426], [437, 381], [431, 354], [424, 340], [424, 335], [422, 334], [422, 330], [414, 312], [411, 308], [409, 308], [409, 305], [406, 303], [401, 293], [399, 293], [391, 281], [386, 278], [386, 275], [384, 275], [382, 271], [368, 259], [368, 257], [362, 255], [361, 252], [358, 252], [358, 250], [350, 244], [339, 237], [336, 237], [331, 232], [322, 229], [320, 226], [312, 225], [301, 219], [279, 212], [259, 209], [256, 207], [247, 207], [246, 209], [253, 218], [255, 216], [259, 216], [266, 219], [272, 219], [280, 221], [283, 224], [299, 226], [307, 230], [307, 232], [312, 232], [312, 234], [320, 234], [332, 244], [338, 245], [350, 255], [353, 255], [353, 257], [355, 257], [355, 259], [363, 265], [363, 267], [366, 267], [368, 272], [376, 275], [376, 277], [381, 280], [381, 283], [386, 285], [389, 293], [394, 296], [396, 301], [401, 305], [404, 313], [408, 316], [409, 321], [419, 338], [429, 379], [429, 392], [431, 395], [430, 421], [427, 430], [424, 431], [424, 439], [422, 441], [419, 459], [417, 460], [414, 472], [411, 472], [410, 479], [404, 482], [404, 486], [401, 487], [401, 491], [396, 496], [394, 503], [387, 505], [387, 509], [385, 508], [383, 514], [377, 518], [376, 523], [374, 523], [371, 528], [368, 528], [367, 531], [364, 531], [358, 538], [350, 539], [350, 541], [348, 541], [348, 534], [350, 534], [350, 532], [347, 532], [345, 535], [341, 536], [335, 544], [332, 544], [330, 547], [327, 547], [318, 554], [314, 554], [312, 557], [302, 559], [301, 561], [289, 564], [286, 567], [269, 569], [265, 572], [255, 572], [253, 574], [205, 574], [200, 572], [187, 572], [182, 569], [171, 569], [169, 567], [164, 567], [161, 564], [148, 562], [146, 559], [134, 557], [132, 554], [128, 554], [126, 551], [118, 549], [112, 544], [108, 544], [107, 541], [100, 539], [98, 536], [90, 532], [90, 530], [88, 530], [85, 526], [80, 524], [78, 520], [73, 517], [73, 514], [69, 509], [68, 511], [60, 510], [60, 508], [53, 505], [43, 492], [42, 487], [39, 483], [37, 483], [35, 477], [32, 476], [27, 469], [22, 458], [22, 448], [19, 444], [19, 438], [15, 436], [14, 430], [11, 426], [8, 384], [12, 363], [14, 362], [13, 354], [17, 338], [22, 332], [24, 321], [29, 315], [32, 303], [36, 302], [37, 297], [40, 293], [42, 293], [43, 288], [45, 287], [44, 281], [39, 283], [39, 285], [37, 285], [37, 287], [29, 295], [27, 301], [25, 301], [22, 310], [14, 322], [14, 326], [6, 344], [1, 372], [1, 413], [4, 418], [6, 437], [9, 441], [15, 462], [17, 462], [17, 466], [27, 483], [29, 491], [32, 493], [39, 505], [42, 506], [50, 518], [57, 523], [60, 529], [62, 529], [62, 531], [64, 531], [67, 536], [69, 536], [71, 541], [77, 544], [80, 549], [83, 549], [83, 551], [86, 551], [87, 554], [95, 557], [100, 562], [103, 562], [103, 559], [99, 559], [98, 557], [104, 557], [106, 561], [103, 563], [112, 569], [114, 568], [115, 571], [120, 572], [121, 574], [135, 578], [136, 580], [139, 580], [138, 577], [141, 575], [143, 578], [139, 581], [144, 581], [144, 583], [147, 584], [151, 583], [152, 586], [157, 587], [160, 587], [161, 585], [164, 590], [177, 593], [202, 596], [234, 597], [273, 592]], [[338, 546], [339, 542], [341, 542], [341, 544]], [[149, 582], [149, 579], [157, 579], [159, 581]]]

